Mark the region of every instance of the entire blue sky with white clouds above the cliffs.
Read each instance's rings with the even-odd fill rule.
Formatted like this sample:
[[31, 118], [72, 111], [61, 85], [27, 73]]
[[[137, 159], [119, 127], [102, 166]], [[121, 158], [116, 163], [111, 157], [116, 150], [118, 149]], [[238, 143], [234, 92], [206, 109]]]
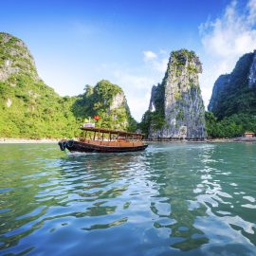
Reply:
[[0, 0], [0, 31], [22, 39], [40, 77], [62, 95], [102, 79], [138, 121], [173, 50], [193, 50], [205, 106], [219, 75], [256, 49], [256, 0]]

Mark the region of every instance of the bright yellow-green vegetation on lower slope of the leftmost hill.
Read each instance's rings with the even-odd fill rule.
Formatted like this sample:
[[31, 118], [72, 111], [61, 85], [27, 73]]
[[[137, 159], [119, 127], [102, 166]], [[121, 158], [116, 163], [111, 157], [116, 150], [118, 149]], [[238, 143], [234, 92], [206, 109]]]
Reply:
[[0, 137], [75, 136], [79, 121], [70, 111], [75, 98], [58, 96], [43, 81], [11, 75], [0, 82], [0, 97]]

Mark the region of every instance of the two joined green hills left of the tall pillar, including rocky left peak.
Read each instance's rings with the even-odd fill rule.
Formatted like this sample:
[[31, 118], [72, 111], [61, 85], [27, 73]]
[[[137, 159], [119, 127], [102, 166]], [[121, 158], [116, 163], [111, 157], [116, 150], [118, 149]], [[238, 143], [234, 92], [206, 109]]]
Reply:
[[77, 97], [61, 97], [43, 82], [24, 42], [0, 33], [0, 137], [76, 137], [84, 119], [131, 130], [136, 121], [121, 88], [108, 81]]

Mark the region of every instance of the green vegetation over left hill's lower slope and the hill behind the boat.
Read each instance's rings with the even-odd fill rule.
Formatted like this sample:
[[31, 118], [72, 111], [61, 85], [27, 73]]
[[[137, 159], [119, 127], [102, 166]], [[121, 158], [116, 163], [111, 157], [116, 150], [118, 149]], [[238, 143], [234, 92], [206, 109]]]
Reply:
[[60, 97], [43, 81], [11, 75], [0, 82], [0, 137], [76, 137], [82, 122], [94, 115], [101, 117], [97, 126], [135, 131], [126, 101], [111, 108], [115, 93], [123, 95], [117, 85], [102, 81], [79, 97]]

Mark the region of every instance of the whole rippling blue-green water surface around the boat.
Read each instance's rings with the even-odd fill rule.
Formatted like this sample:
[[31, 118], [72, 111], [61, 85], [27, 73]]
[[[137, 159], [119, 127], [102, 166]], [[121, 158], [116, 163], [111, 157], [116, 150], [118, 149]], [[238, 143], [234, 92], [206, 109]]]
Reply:
[[0, 255], [256, 255], [256, 144], [0, 145]]

